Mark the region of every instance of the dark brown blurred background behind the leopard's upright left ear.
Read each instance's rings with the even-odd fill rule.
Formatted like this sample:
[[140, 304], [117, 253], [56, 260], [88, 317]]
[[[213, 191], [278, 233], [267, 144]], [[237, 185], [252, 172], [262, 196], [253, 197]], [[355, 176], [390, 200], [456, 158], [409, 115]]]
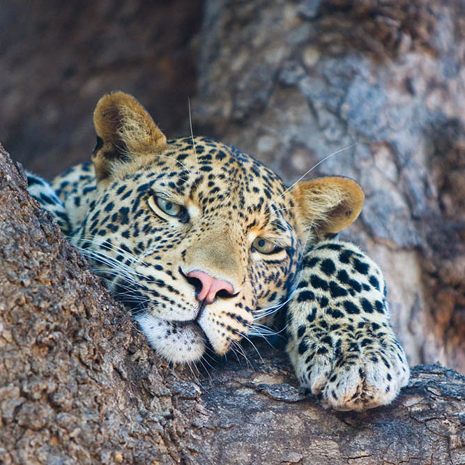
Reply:
[[88, 160], [93, 109], [116, 90], [179, 135], [196, 91], [200, 23], [197, 0], [2, 2], [3, 146], [47, 178]]

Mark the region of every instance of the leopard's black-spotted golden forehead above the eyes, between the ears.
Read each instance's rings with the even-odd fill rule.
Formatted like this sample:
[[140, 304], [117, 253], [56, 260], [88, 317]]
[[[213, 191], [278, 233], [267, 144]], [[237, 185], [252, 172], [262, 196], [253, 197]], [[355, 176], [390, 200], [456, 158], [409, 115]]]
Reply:
[[257, 204], [283, 204], [286, 190], [280, 177], [259, 161], [208, 137], [167, 142], [161, 153], [136, 158], [123, 180], [137, 183], [139, 190], [154, 184], [174, 196], [198, 197], [202, 204], [215, 199], [234, 209], [238, 202], [244, 213], [252, 213], [247, 207]]

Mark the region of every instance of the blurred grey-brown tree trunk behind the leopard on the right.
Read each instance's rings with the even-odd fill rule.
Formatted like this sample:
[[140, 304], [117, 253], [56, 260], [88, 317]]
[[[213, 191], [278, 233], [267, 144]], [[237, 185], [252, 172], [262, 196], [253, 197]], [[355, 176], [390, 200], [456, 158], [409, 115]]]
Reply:
[[[464, 1], [206, 2], [195, 132], [366, 193], [351, 238], [411, 364], [465, 372]], [[354, 145], [355, 144], [355, 145]]]

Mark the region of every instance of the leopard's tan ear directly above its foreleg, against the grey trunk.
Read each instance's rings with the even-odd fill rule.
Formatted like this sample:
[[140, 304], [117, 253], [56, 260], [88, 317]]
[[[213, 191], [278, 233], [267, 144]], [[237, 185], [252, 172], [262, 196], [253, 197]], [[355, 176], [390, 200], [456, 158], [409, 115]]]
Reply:
[[342, 176], [300, 181], [291, 189], [291, 196], [297, 206], [298, 236], [304, 242], [309, 231], [323, 239], [348, 227], [365, 201], [360, 185]]

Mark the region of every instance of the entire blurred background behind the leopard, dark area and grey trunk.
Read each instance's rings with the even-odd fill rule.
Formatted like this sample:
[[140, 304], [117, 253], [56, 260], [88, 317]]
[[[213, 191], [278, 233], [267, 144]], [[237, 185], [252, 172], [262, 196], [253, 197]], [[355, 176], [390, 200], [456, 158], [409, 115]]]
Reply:
[[[167, 137], [235, 144], [295, 181], [356, 178], [345, 234], [386, 273], [412, 364], [465, 372], [464, 1], [3, 1], [0, 141], [50, 178], [87, 160], [103, 93]], [[353, 144], [356, 143], [354, 146]]]

